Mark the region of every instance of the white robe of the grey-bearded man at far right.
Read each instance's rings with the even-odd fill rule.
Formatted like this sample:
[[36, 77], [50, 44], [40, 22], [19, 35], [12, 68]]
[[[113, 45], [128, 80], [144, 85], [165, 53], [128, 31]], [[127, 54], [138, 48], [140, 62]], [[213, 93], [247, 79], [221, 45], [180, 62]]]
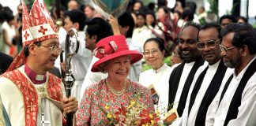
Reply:
[[[216, 110], [215, 117], [213, 119], [209, 119], [209, 118], [206, 119], [206, 120], [213, 120], [213, 121], [209, 121], [209, 122], [213, 122], [213, 124], [209, 123], [207, 125], [214, 125], [214, 126], [224, 125], [224, 121], [225, 121], [227, 113], [228, 113], [228, 108], [230, 106], [230, 103], [232, 102], [232, 98], [233, 98], [233, 95], [235, 94], [235, 90], [238, 87], [248, 66], [254, 60], [255, 60], [255, 57], [239, 73], [239, 75], [235, 75], [235, 72], [233, 73], [234, 76], [231, 80], [231, 83], [228, 86], [227, 91], [224, 94], [224, 97], [222, 98], [222, 100], [220, 102], [220, 106]], [[222, 91], [219, 91], [218, 93], [220, 93], [220, 95], [221, 95]], [[256, 109], [255, 109], [255, 106], [256, 106], [256, 73], [254, 73], [254, 75], [250, 77], [250, 80], [248, 80], [247, 85], [243, 90], [241, 100], [242, 100], [241, 106], [239, 106], [239, 113], [237, 115], [237, 118], [230, 120], [228, 122], [228, 125], [239, 125], [239, 126], [256, 125], [255, 119], [251, 118], [251, 117], [255, 117], [253, 114], [256, 113]]]

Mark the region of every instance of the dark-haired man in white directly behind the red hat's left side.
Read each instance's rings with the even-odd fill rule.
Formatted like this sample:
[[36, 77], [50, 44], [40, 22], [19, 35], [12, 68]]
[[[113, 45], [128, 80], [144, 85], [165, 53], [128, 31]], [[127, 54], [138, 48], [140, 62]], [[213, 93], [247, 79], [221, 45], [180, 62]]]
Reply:
[[[86, 23], [87, 28], [85, 30], [85, 47], [88, 50], [96, 49], [96, 43], [100, 41], [100, 39], [104, 39], [107, 36], [113, 35], [113, 31], [111, 25], [104, 19], [100, 17], [94, 17], [92, 20], [88, 20]], [[104, 29], [104, 30], [102, 30]], [[97, 57], [92, 56], [92, 61], [88, 67], [88, 69], [92, 69], [92, 65], [98, 60]], [[85, 88], [93, 83], [98, 83], [102, 78], [105, 78], [106, 75], [101, 72], [92, 72], [88, 70], [85, 75], [85, 80], [81, 86], [80, 96], [84, 95]], [[79, 99], [81, 101], [81, 98]]]

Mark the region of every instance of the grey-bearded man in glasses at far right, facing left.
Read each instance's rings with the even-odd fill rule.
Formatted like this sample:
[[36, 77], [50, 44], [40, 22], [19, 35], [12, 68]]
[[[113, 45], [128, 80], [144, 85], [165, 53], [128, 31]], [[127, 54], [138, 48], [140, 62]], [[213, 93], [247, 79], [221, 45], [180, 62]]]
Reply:
[[206, 121], [214, 126], [256, 125], [256, 34], [250, 24], [228, 24], [221, 34], [224, 65], [234, 71], [213, 100], [214, 117]]

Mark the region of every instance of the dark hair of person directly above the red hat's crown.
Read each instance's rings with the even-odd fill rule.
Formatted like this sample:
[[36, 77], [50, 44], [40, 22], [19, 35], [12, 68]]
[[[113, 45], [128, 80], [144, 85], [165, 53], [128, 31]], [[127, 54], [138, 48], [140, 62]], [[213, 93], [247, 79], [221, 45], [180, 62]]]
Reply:
[[134, 26], [135, 26], [134, 18], [131, 16], [130, 13], [126, 12], [126, 13], [123, 13], [118, 20], [119, 20], [119, 25], [121, 25], [122, 28], [129, 26], [129, 30], [126, 33], [126, 38], [131, 38], [134, 32]]

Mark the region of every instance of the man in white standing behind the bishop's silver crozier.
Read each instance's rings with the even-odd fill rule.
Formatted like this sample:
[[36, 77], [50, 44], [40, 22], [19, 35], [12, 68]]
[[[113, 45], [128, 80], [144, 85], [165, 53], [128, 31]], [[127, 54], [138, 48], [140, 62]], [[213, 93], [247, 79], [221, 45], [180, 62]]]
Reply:
[[[71, 71], [74, 77], [74, 83], [71, 90], [71, 95], [77, 99], [80, 99], [80, 90], [81, 85], [85, 80], [86, 72], [88, 71], [88, 67], [92, 61], [91, 51], [85, 48], [85, 13], [78, 9], [68, 10], [64, 13], [64, 28], [68, 32], [71, 28], [75, 28], [77, 30], [78, 38], [71, 38], [74, 44], [79, 43], [79, 49], [77, 54], [72, 57], [70, 62]], [[78, 42], [77, 42], [78, 41]], [[60, 45], [63, 49], [66, 48], [66, 38], [60, 41]], [[62, 63], [63, 71], [66, 71], [66, 64]]]

